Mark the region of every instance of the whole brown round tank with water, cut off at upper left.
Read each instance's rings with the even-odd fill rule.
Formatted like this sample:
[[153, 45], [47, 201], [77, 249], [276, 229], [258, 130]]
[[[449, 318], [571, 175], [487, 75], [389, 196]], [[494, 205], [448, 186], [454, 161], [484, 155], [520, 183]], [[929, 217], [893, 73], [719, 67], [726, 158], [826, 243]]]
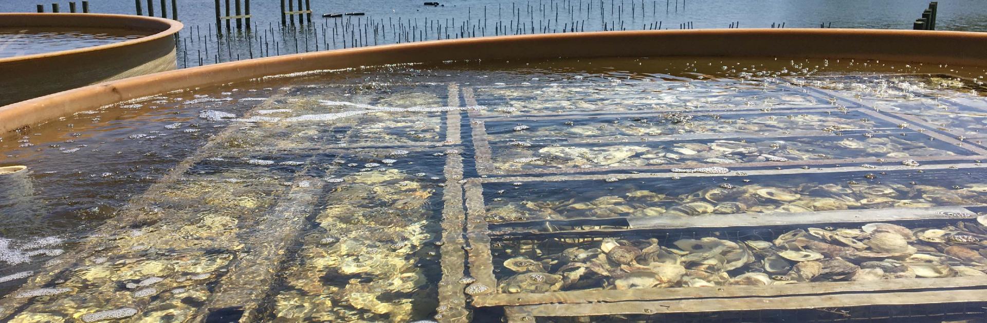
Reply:
[[[177, 68], [172, 20], [102, 14], [0, 14], [0, 104]], [[17, 76], [17, 77], [12, 77]]]

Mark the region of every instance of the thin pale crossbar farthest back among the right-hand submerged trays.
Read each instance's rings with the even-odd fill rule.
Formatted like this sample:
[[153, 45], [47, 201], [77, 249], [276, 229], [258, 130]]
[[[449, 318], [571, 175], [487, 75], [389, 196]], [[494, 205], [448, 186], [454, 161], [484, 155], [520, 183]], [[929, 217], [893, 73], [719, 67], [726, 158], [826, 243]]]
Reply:
[[[829, 104], [805, 104], [805, 105], [773, 105], [773, 106], [736, 106], [734, 108], [654, 108], [646, 110], [589, 110], [589, 111], [554, 111], [523, 113], [516, 115], [480, 115], [478, 118], [484, 121], [514, 121], [514, 120], [557, 120], [571, 118], [606, 118], [606, 117], [627, 117], [627, 116], [653, 116], [668, 112], [684, 113], [721, 113], [721, 114], [756, 114], [756, 113], [782, 113], [782, 112], [825, 112], [822, 108], [836, 108], [836, 105]], [[778, 111], [776, 111], [778, 109]]]

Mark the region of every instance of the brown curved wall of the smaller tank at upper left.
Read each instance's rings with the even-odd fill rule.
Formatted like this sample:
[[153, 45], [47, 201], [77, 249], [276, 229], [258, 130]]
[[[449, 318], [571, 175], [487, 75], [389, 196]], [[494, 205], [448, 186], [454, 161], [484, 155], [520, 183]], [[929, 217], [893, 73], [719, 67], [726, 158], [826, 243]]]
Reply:
[[0, 58], [0, 104], [105, 81], [170, 71], [178, 66], [173, 34], [182, 23], [96, 14], [0, 14], [0, 28], [113, 28], [149, 36], [65, 51]]

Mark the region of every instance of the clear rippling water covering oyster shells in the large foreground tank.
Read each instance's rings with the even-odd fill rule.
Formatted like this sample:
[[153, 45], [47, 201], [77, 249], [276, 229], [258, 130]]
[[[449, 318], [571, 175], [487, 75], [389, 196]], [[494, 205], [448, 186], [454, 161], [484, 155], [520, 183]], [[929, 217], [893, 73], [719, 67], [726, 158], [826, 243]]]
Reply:
[[[987, 270], [984, 75], [460, 62], [121, 102], [0, 142], [0, 165], [31, 169], [31, 203], [0, 203], [0, 307], [15, 322], [493, 321], [469, 316], [474, 296], [966, 282]], [[873, 225], [889, 214], [914, 219]]]

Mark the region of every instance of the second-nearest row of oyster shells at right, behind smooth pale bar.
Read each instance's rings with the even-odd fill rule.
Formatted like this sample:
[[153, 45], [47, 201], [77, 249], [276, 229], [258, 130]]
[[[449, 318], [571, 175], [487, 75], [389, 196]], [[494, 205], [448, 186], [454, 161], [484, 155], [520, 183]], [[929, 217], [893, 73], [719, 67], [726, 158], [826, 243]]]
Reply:
[[[876, 175], [867, 173], [865, 178]], [[923, 185], [917, 182], [881, 183], [851, 180], [844, 184], [770, 181], [773, 185], [721, 183], [690, 193], [666, 195], [637, 189], [627, 184], [615, 190], [575, 189], [558, 200], [527, 200], [537, 193], [514, 198], [490, 199], [484, 219], [489, 223], [532, 219], [574, 219], [614, 217], [693, 217], [709, 214], [815, 212], [884, 208], [922, 208], [952, 205], [987, 204], [987, 184], [968, 183], [952, 187]], [[683, 183], [688, 185], [688, 183]], [[949, 185], [949, 184], [947, 184]], [[666, 186], [667, 187], [667, 186]], [[524, 186], [520, 187], [524, 189]], [[661, 190], [657, 187], [654, 190]], [[599, 196], [601, 192], [620, 195]], [[506, 193], [507, 191], [502, 191]], [[523, 192], [523, 191], [518, 191]], [[555, 191], [553, 191], [555, 192]], [[556, 192], [557, 193], [557, 192]], [[511, 194], [518, 194], [511, 192]], [[596, 194], [599, 197], [594, 197]]]

